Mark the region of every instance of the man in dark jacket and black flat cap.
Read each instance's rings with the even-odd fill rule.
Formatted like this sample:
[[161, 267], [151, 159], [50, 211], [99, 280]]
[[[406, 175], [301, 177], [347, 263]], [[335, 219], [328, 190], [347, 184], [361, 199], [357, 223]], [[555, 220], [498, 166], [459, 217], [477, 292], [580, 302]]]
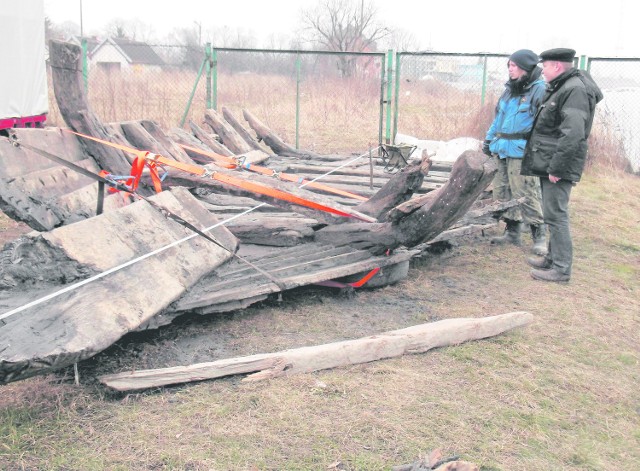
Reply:
[[573, 67], [573, 49], [540, 54], [547, 91], [533, 123], [522, 161], [522, 175], [540, 177], [542, 211], [549, 227], [548, 253], [527, 260], [531, 276], [543, 281], [569, 281], [573, 243], [569, 229], [569, 197], [580, 181], [587, 159], [587, 138], [602, 92], [591, 76]]

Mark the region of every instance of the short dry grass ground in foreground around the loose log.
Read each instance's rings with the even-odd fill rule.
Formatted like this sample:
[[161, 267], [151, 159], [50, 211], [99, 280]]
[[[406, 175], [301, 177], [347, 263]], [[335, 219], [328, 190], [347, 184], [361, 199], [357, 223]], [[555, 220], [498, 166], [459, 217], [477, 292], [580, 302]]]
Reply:
[[[442, 447], [485, 471], [635, 469], [640, 180], [593, 167], [571, 211], [575, 268], [567, 285], [532, 280], [525, 247], [496, 248], [479, 237], [416, 262], [396, 286], [353, 299], [306, 288], [281, 304], [122, 344], [81, 365], [81, 386], [62, 375], [0, 386], [0, 468], [317, 470], [340, 461], [342, 469], [382, 470]], [[122, 369], [145, 354], [190, 348], [203, 361], [207, 349], [246, 355], [516, 310], [532, 312], [535, 323], [262, 383], [229, 378], [110, 395], [91, 381], [101, 363]]]

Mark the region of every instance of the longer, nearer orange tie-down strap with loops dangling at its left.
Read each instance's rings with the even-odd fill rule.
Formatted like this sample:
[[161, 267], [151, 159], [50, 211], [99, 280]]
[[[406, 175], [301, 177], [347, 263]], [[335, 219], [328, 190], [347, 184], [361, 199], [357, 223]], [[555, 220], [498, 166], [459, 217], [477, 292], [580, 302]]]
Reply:
[[[153, 181], [153, 185], [156, 192], [162, 191], [161, 178], [158, 174], [158, 167], [167, 166], [167, 167], [175, 168], [177, 170], [182, 170], [183, 172], [198, 175], [201, 177], [205, 177], [205, 178], [210, 177], [221, 183], [226, 183], [228, 185], [232, 185], [238, 188], [243, 188], [252, 193], [258, 193], [258, 194], [270, 196], [272, 198], [276, 198], [282, 201], [287, 201], [289, 203], [296, 204], [298, 206], [304, 206], [307, 208], [324, 211], [330, 214], [335, 214], [337, 216], [356, 218], [366, 222], [375, 222], [375, 218], [362, 217], [360, 215], [346, 213], [344, 211], [340, 211], [339, 209], [335, 209], [330, 206], [316, 203], [315, 201], [309, 201], [307, 199], [296, 196], [292, 193], [278, 190], [270, 186], [262, 185], [260, 183], [255, 183], [255, 182], [248, 182], [241, 178], [236, 178], [230, 175], [225, 175], [219, 172], [211, 171], [200, 165], [192, 165], [192, 164], [178, 162], [177, 160], [168, 159], [159, 154], [153, 154], [149, 151], [134, 149], [132, 147], [123, 146], [121, 144], [116, 144], [110, 141], [106, 141], [104, 139], [98, 139], [96, 137], [88, 136], [86, 134], [80, 134], [71, 130], [69, 130], [69, 132], [77, 136], [80, 136], [82, 138], [90, 139], [92, 141], [99, 142], [106, 146], [114, 147], [116, 149], [120, 149], [124, 152], [128, 152], [130, 154], [135, 155], [136, 158], [134, 159], [131, 167], [131, 175], [129, 177], [126, 177], [126, 182], [125, 182], [125, 184], [131, 188], [131, 191], [135, 191], [137, 189], [138, 184], [140, 182], [140, 178], [142, 176], [142, 170], [144, 169], [145, 165], [149, 168], [151, 179]], [[108, 174], [104, 174], [104, 175], [108, 175]]]

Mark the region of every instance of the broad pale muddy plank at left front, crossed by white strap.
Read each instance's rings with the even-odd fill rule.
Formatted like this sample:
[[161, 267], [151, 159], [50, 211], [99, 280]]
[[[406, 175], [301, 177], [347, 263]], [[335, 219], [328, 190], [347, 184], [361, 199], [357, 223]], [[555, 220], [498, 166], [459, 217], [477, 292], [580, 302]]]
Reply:
[[[156, 203], [198, 226], [215, 219], [184, 189], [153, 197]], [[117, 267], [121, 269], [40, 304], [3, 313], [0, 383], [68, 366], [89, 358], [137, 329], [179, 299], [203, 276], [231, 257], [237, 240], [223, 227], [130, 264], [192, 232], [139, 201], [51, 232], [31, 234], [5, 246], [0, 280], [24, 296], [37, 286], [61, 288]], [[11, 260], [21, 257], [20, 264]], [[75, 285], [73, 285], [75, 286]], [[28, 299], [28, 301], [34, 301]]]

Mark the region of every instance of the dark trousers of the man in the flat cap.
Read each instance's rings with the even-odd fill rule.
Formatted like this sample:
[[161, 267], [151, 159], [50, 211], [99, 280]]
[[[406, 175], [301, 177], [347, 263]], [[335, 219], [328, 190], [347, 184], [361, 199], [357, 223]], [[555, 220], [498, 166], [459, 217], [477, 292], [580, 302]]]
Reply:
[[549, 178], [540, 178], [542, 187], [542, 212], [544, 222], [549, 226], [549, 253], [547, 258], [553, 262], [552, 268], [571, 275], [573, 262], [573, 243], [569, 229], [569, 196], [575, 183], [560, 180], [551, 183]]

